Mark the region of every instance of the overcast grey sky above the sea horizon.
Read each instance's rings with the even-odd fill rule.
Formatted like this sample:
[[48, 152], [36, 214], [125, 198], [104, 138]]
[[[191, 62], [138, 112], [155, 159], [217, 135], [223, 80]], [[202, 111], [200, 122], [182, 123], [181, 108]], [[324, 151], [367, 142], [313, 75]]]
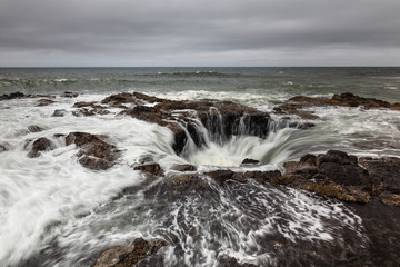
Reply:
[[0, 67], [400, 66], [399, 0], [0, 0]]

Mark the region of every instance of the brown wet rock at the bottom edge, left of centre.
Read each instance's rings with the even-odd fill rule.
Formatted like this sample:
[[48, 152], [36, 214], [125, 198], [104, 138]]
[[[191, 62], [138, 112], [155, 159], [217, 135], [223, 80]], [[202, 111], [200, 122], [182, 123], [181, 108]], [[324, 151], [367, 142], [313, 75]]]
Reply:
[[161, 239], [147, 241], [143, 238], [137, 238], [129, 246], [110, 247], [100, 255], [92, 267], [131, 267], [157, 254], [163, 246], [167, 246], [167, 243]]

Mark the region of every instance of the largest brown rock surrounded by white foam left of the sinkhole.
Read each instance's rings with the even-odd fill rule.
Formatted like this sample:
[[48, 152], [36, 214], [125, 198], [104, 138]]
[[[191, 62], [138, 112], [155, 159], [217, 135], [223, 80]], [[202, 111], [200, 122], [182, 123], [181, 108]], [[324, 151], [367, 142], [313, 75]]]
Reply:
[[106, 170], [116, 164], [119, 150], [116, 146], [100, 139], [100, 136], [87, 132], [71, 132], [66, 137], [66, 144], [76, 144], [80, 148], [79, 162], [92, 170]]

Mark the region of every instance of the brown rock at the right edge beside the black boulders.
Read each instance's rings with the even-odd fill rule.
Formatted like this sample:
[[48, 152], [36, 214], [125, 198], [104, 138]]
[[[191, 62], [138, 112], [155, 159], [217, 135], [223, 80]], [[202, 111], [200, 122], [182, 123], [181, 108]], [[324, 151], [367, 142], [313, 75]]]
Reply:
[[400, 206], [400, 158], [359, 159], [372, 178], [372, 194], [387, 205]]

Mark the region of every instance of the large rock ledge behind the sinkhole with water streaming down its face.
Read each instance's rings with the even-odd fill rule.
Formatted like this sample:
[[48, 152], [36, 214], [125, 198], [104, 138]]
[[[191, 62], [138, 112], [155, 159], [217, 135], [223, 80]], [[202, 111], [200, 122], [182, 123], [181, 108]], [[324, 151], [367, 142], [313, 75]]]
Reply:
[[[153, 107], [143, 106], [140, 101], [158, 102]], [[206, 137], [199, 132], [199, 122], [219, 141], [226, 141], [236, 135], [266, 137], [269, 131], [270, 116], [254, 108], [230, 101], [202, 99], [197, 101], [173, 101], [159, 99], [141, 93], [119, 93], [110, 96], [102, 103], [134, 103], [133, 108], [120, 115], [157, 123], [169, 128], [174, 135], [173, 149], [180, 154], [188, 141], [188, 135], [201, 147]]]

